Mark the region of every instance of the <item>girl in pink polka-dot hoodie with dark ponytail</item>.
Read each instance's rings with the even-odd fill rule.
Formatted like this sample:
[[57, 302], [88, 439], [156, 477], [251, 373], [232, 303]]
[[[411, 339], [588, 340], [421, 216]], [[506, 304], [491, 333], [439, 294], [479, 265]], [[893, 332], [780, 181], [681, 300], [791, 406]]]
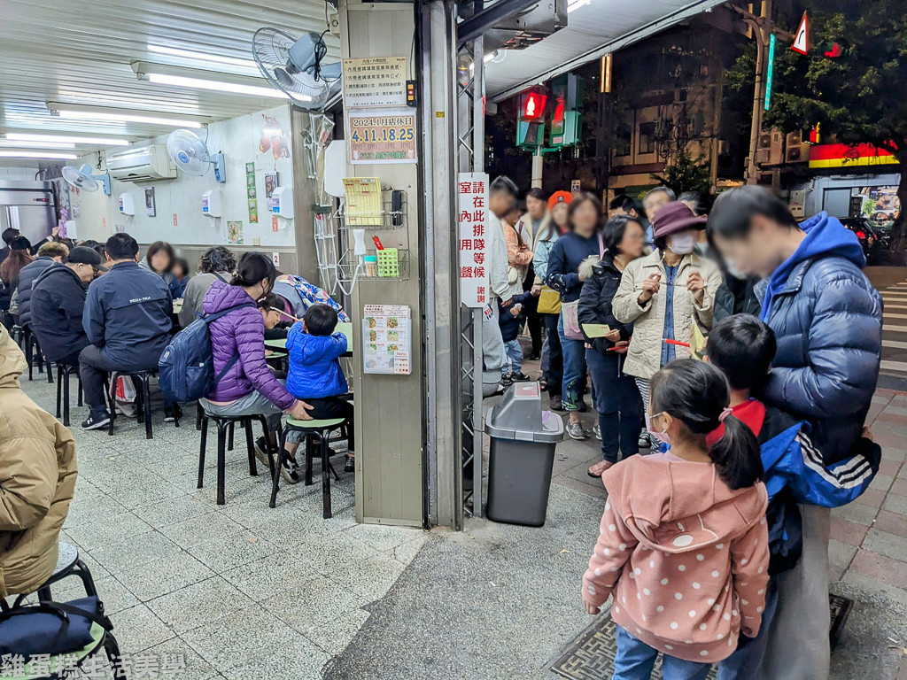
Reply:
[[[582, 578], [586, 611], [613, 593], [614, 680], [701, 680], [756, 636], [768, 581], [767, 494], [756, 437], [729, 415], [730, 389], [692, 359], [655, 374], [646, 420], [669, 452], [631, 456], [602, 475], [608, 501]], [[706, 435], [724, 423], [711, 447]]]

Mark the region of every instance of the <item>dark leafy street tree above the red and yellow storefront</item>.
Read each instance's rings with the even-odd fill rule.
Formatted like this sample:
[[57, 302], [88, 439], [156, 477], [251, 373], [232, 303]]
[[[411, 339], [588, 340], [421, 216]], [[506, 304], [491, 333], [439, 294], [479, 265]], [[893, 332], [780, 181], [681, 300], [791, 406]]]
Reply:
[[[816, 5], [814, 5], [816, 6]], [[792, 17], [793, 23], [799, 16]], [[766, 127], [791, 132], [817, 123], [823, 137], [889, 151], [907, 167], [907, 14], [903, 0], [832, 0], [810, 9], [810, 53], [775, 55], [775, 83]], [[794, 31], [796, 25], [787, 26]], [[837, 44], [837, 48], [832, 45]], [[825, 53], [829, 55], [826, 56]], [[754, 51], [727, 73], [732, 87], [752, 89]], [[898, 198], [907, 207], [907, 172]], [[902, 210], [892, 228], [892, 249], [907, 246]]]

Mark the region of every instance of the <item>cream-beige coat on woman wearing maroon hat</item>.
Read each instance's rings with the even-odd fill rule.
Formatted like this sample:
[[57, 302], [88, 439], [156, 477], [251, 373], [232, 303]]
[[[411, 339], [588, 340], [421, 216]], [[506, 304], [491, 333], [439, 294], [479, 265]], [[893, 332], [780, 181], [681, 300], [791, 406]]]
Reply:
[[[706, 282], [706, 294], [702, 305], [696, 305], [693, 296], [687, 290], [687, 278], [691, 272], [698, 271]], [[639, 305], [639, 294], [642, 283], [651, 274], [661, 275], [661, 288], [645, 305]], [[624, 373], [639, 378], [650, 378], [661, 364], [662, 337], [665, 328], [665, 265], [658, 250], [639, 257], [627, 265], [620, 287], [611, 308], [615, 318], [623, 324], [633, 324], [633, 335], [629, 341], [629, 351], [624, 364]], [[715, 306], [715, 292], [721, 284], [721, 273], [710, 259], [699, 257], [696, 253], [680, 260], [674, 294], [674, 339], [688, 342], [693, 317], [703, 333], [712, 327], [712, 316]], [[678, 359], [689, 358], [686, 347], [676, 346]]]

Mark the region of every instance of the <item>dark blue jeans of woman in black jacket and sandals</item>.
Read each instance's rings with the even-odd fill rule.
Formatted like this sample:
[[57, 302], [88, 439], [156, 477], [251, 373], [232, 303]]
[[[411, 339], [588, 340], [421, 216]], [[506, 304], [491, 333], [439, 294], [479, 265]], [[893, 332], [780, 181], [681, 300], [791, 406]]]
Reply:
[[587, 349], [586, 364], [595, 387], [595, 410], [599, 412], [601, 459], [617, 462], [621, 453], [624, 458], [639, 453], [642, 400], [636, 381], [620, 370], [623, 361], [614, 352], [603, 355]]

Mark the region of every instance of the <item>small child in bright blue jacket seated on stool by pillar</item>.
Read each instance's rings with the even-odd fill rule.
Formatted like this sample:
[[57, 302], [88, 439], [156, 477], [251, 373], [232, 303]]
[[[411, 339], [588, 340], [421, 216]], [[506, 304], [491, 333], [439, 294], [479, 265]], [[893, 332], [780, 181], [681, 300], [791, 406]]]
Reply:
[[312, 305], [287, 335], [289, 371], [287, 390], [311, 406], [316, 420], [345, 418], [348, 447], [344, 471], [355, 469], [356, 442], [353, 432], [353, 404], [341, 399], [346, 394], [346, 376], [338, 359], [346, 354], [346, 335], [335, 333], [336, 311], [327, 305]]

